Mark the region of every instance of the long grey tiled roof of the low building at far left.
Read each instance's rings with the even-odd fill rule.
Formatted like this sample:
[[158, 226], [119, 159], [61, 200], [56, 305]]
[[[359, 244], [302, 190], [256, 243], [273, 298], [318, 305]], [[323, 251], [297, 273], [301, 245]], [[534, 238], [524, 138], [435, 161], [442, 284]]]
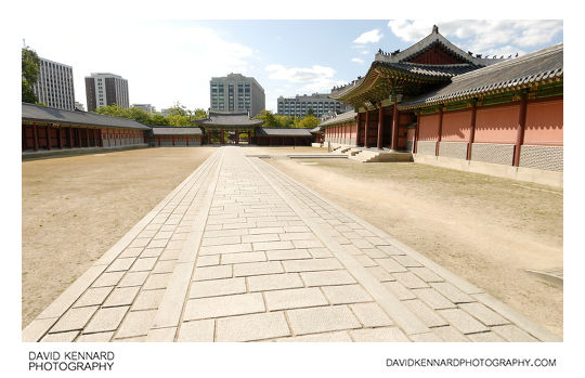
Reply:
[[47, 107], [41, 105], [22, 103], [23, 120], [52, 122], [62, 125], [84, 125], [84, 126], [102, 126], [119, 129], [141, 129], [150, 130], [146, 125], [134, 119], [104, 116], [101, 114], [89, 112], [72, 112], [57, 109], [55, 107]]

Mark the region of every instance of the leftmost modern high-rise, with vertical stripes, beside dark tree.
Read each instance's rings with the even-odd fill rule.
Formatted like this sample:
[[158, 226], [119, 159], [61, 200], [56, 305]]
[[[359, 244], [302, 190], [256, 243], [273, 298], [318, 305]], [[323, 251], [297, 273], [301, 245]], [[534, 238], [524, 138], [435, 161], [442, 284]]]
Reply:
[[32, 91], [39, 102], [65, 110], [75, 110], [73, 67], [39, 57], [39, 79]]

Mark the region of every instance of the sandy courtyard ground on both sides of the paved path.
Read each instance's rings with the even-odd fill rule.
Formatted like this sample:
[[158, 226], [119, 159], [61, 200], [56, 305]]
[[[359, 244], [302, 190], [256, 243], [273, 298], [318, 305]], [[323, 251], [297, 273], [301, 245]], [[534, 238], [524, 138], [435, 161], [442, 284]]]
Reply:
[[[23, 327], [213, 147], [23, 162]], [[274, 167], [562, 336], [562, 192], [414, 164], [288, 159], [324, 148], [247, 147]]]

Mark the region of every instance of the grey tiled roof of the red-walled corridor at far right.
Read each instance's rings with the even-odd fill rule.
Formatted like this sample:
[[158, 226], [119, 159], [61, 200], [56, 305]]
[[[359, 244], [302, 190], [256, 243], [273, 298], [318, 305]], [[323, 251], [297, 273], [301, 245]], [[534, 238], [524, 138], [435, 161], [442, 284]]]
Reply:
[[492, 91], [508, 92], [534, 82], [562, 79], [562, 43], [455, 76], [439, 90], [399, 105], [401, 109], [472, 99]]

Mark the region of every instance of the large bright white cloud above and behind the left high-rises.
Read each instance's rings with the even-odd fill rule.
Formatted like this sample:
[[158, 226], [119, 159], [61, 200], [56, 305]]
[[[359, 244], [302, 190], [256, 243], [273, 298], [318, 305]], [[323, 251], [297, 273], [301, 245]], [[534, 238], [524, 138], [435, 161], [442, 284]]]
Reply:
[[146, 21], [113, 21], [116, 27], [106, 24], [103, 28], [72, 23], [55, 23], [51, 32], [32, 23], [22, 34], [40, 56], [73, 66], [76, 101], [82, 103], [83, 78], [110, 71], [128, 79], [130, 103], [151, 103], [160, 109], [181, 101], [191, 108], [207, 108], [212, 76], [246, 75], [251, 69], [253, 50], [210, 28]]

